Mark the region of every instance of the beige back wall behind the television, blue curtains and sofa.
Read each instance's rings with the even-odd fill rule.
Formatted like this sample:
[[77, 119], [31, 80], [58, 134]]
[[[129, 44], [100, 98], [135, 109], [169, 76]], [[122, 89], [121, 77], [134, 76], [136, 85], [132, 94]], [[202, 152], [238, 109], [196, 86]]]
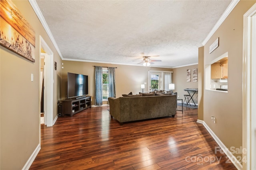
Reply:
[[[144, 82], [148, 83], [148, 71], [149, 70], [164, 70], [172, 71], [170, 68], [156, 68], [156, 67], [144, 67], [144, 66], [128, 66], [120, 64], [105, 64], [105, 63], [88, 63], [79, 61], [62, 61], [62, 87], [61, 96], [62, 100], [67, 98], [67, 72], [73, 72], [77, 74], [88, 75], [88, 93], [92, 96], [92, 104], [94, 105], [95, 96], [95, 76], [94, 66], [104, 67], [117, 67], [116, 68], [116, 98], [122, 96], [122, 94], [138, 94], [142, 92], [140, 84]], [[145, 86], [144, 92], [148, 91], [148, 86]], [[107, 102], [103, 102], [107, 104]]]

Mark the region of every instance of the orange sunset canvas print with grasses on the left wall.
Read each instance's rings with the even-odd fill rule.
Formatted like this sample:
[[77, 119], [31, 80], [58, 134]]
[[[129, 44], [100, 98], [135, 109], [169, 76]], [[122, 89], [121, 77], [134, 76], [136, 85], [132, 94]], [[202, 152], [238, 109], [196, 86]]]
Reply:
[[0, 0], [0, 44], [35, 62], [35, 31], [11, 0]]

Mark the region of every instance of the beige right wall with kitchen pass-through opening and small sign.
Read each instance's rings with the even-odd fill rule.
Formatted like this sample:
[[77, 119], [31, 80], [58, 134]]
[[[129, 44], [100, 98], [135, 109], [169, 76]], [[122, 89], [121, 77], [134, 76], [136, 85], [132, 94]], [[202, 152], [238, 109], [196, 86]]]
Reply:
[[[228, 149], [242, 147], [243, 15], [254, 3], [240, 0], [204, 45], [204, 69], [214, 59], [228, 52], [228, 93], [205, 90], [204, 86], [203, 95], [204, 122]], [[209, 54], [210, 45], [218, 37], [219, 46]], [[215, 124], [211, 116], [216, 118]], [[232, 154], [242, 157], [242, 153]]]

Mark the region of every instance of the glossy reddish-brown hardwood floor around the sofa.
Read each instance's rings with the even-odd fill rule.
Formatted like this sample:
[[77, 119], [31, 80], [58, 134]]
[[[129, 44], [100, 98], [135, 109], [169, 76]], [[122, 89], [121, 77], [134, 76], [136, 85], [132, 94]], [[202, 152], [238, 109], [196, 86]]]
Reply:
[[[41, 125], [41, 150], [30, 170], [235, 170], [200, 123], [197, 110], [120, 124], [109, 107], [92, 107]], [[181, 109], [178, 106], [177, 109]]]

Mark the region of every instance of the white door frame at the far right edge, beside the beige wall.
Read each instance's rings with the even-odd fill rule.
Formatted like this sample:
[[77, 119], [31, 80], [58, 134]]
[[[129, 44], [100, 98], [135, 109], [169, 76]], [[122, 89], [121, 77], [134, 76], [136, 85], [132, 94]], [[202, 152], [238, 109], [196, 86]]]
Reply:
[[256, 169], [256, 3], [244, 14], [242, 145], [243, 169]]

